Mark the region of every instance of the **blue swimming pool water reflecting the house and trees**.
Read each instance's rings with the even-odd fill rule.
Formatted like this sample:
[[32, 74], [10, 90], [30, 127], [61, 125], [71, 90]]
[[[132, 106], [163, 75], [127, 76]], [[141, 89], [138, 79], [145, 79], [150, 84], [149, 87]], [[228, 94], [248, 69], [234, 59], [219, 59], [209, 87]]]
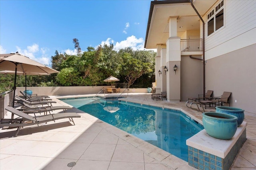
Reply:
[[186, 139], [203, 129], [186, 114], [172, 109], [92, 98], [62, 101], [187, 162]]

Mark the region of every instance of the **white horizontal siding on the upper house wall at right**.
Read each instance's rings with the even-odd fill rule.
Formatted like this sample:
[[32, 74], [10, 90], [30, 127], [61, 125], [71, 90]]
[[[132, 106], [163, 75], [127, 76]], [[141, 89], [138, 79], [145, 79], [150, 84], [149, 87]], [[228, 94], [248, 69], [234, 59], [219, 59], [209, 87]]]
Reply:
[[[255, 27], [256, 0], [224, 0], [224, 26], [215, 33], [212, 33], [212, 35], [208, 37], [206, 35], [205, 51], [207, 52]], [[243, 39], [243, 41], [246, 41], [246, 39]], [[243, 44], [243, 42], [236, 43]], [[237, 48], [242, 47], [238, 46]]]

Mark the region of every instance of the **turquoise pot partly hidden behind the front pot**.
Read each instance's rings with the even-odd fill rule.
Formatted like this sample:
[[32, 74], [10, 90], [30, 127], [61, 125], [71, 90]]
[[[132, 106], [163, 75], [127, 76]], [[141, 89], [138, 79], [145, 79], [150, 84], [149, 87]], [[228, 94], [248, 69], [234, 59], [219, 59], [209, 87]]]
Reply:
[[244, 110], [236, 107], [228, 107], [228, 106], [217, 106], [217, 113], [226, 113], [230, 115], [234, 115], [237, 117], [237, 126], [240, 126], [244, 121]]

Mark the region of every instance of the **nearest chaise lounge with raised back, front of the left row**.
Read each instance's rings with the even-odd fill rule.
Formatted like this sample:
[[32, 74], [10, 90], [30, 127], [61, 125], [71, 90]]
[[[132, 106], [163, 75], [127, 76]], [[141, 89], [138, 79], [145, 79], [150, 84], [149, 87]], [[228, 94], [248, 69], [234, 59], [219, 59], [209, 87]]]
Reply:
[[[7, 111], [10, 111], [11, 113], [18, 116], [16, 119], [2, 119], [0, 121], [0, 127], [17, 127], [16, 135], [18, 135], [20, 128], [24, 126], [30, 126], [30, 125], [37, 125], [39, 126], [40, 123], [46, 123], [49, 121], [56, 121], [58, 119], [64, 119], [69, 118], [70, 121], [74, 123], [73, 118], [75, 117], [81, 117], [77, 113], [56, 113], [51, 115], [40, 115], [40, 116], [31, 116], [26, 113], [23, 113], [22, 111], [19, 111], [13, 107], [7, 106]], [[75, 123], [74, 123], [75, 125]]]

